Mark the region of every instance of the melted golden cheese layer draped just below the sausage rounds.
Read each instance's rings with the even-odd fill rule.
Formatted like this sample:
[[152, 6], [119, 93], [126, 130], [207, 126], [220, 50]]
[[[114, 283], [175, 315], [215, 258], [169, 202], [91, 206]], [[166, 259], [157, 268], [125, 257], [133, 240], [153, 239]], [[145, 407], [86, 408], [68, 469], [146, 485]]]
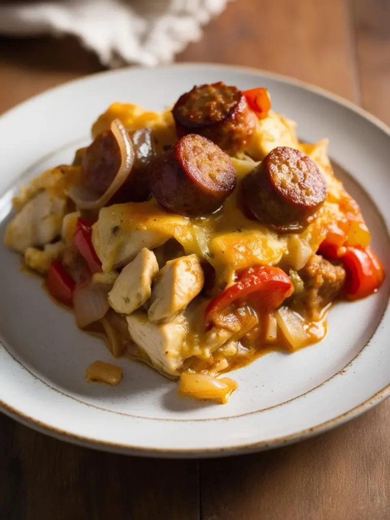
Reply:
[[[219, 281], [228, 282], [236, 270], [254, 264], [275, 265], [282, 259], [292, 268], [297, 265], [296, 242], [316, 252], [329, 225], [341, 217], [339, 206], [326, 201], [318, 218], [302, 233], [281, 233], [248, 220], [237, 207], [237, 191], [225, 201], [222, 209], [209, 217], [189, 218], [165, 212], [154, 199], [148, 202], [116, 204], [100, 210], [93, 228], [93, 243], [103, 269], [125, 264], [138, 250], [126, 245], [136, 243], [135, 232], [145, 233], [139, 248], [157, 247], [170, 238], [183, 245], [186, 254], [196, 253], [213, 265]], [[332, 198], [332, 194], [330, 194]], [[293, 238], [293, 240], [292, 240]]]

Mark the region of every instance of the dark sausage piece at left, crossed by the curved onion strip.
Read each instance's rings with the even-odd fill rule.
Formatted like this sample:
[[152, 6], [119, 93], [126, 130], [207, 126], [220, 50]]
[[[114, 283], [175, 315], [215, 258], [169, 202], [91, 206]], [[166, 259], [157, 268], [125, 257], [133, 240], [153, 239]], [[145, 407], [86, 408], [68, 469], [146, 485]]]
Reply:
[[[141, 202], [149, 198], [147, 165], [154, 157], [150, 128], [141, 128], [130, 134], [135, 160], [125, 183], [115, 193], [112, 202]], [[83, 155], [84, 185], [97, 193], [104, 193], [121, 164], [121, 151], [111, 131], [98, 135]]]

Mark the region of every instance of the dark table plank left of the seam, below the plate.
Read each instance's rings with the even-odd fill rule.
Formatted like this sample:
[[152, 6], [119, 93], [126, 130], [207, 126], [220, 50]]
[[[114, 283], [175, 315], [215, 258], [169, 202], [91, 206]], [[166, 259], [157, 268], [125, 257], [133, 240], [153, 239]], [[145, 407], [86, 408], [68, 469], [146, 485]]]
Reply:
[[198, 463], [80, 448], [0, 415], [1, 520], [199, 520]]

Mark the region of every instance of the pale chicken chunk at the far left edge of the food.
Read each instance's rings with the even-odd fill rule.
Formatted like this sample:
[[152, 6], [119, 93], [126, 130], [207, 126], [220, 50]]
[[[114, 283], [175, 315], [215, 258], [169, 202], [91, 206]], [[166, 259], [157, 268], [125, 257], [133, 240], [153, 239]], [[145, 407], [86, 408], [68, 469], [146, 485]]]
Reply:
[[51, 197], [46, 191], [39, 193], [22, 207], [7, 227], [5, 243], [24, 253], [32, 246], [42, 246], [61, 232], [66, 199]]

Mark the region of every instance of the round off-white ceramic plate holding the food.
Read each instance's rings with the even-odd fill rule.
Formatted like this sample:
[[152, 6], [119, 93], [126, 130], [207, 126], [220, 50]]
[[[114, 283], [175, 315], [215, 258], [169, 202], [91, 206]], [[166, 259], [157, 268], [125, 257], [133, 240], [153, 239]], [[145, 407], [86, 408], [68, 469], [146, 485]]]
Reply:
[[127, 359], [119, 360], [118, 387], [86, 383], [90, 362], [112, 360], [105, 345], [77, 330], [73, 316], [53, 305], [37, 278], [20, 272], [20, 258], [3, 245], [20, 177], [71, 161], [111, 102], [162, 110], [194, 84], [218, 80], [243, 89], [266, 86], [275, 110], [297, 121], [301, 139], [330, 138], [330, 155], [350, 172], [342, 180], [390, 273], [390, 131], [351, 103], [283, 77], [203, 64], [123, 69], [68, 83], [0, 118], [0, 402], [11, 417], [110, 451], [216, 456], [322, 432], [389, 395], [390, 276], [378, 294], [335, 306], [319, 344], [269, 354], [233, 372], [240, 388], [218, 406], [178, 397], [175, 383]]

